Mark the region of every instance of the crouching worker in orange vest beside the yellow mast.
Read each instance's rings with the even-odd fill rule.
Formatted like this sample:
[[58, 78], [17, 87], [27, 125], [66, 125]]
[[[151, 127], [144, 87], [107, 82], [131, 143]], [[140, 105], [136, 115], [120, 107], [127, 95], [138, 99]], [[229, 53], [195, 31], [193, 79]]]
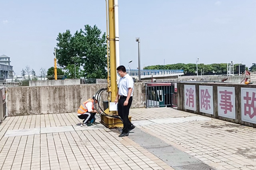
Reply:
[[87, 127], [88, 125], [92, 124], [92, 119], [95, 121], [95, 114], [97, 113], [96, 109], [94, 108], [94, 102], [98, 103], [98, 96], [93, 96], [78, 108], [77, 116], [78, 118], [82, 119], [83, 122], [81, 124], [82, 127]]

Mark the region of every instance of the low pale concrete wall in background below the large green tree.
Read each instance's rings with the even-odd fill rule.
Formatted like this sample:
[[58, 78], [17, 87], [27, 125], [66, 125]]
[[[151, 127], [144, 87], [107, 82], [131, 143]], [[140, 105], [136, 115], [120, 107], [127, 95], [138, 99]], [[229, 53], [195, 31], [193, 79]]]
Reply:
[[60, 85], [76, 85], [76, 84], [80, 84], [80, 79], [29, 81], [29, 86], [60, 86]]

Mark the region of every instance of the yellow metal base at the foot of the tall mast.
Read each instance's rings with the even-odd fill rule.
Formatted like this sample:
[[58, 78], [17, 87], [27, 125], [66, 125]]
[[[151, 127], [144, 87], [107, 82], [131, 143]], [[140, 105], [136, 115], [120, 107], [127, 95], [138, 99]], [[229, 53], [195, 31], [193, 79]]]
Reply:
[[[109, 110], [105, 110], [105, 112], [107, 114], [110, 114]], [[112, 115], [112, 114], [110, 114]], [[115, 115], [117, 116], [117, 115]], [[106, 126], [107, 128], [113, 129], [113, 128], [123, 128], [124, 125], [122, 123], [122, 121], [118, 118], [112, 118], [110, 116], [102, 116], [100, 115], [100, 123], [103, 124], [104, 126]], [[132, 116], [129, 116], [129, 120], [130, 122], [132, 122]]]

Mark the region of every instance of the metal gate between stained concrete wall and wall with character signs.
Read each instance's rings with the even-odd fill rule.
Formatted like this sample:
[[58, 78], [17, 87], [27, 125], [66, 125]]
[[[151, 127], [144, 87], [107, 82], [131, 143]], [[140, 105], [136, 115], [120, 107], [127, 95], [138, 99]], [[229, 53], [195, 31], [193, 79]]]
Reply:
[[177, 82], [146, 83], [146, 108], [176, 107]]

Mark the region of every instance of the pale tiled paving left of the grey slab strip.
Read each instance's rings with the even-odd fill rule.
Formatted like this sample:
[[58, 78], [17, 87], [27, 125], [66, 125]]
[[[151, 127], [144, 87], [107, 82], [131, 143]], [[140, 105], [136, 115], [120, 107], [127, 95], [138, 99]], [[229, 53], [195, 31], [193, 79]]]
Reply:
[[[0, 125], [1, 170], [172, 170], [117, 130], [4, 136], [7, 130], [76, 125], [75, 113], [8, 117]], [[81, 128], [80, 128], [81, 129]], [[118, 132], [119, 133], [119, 132]]]

